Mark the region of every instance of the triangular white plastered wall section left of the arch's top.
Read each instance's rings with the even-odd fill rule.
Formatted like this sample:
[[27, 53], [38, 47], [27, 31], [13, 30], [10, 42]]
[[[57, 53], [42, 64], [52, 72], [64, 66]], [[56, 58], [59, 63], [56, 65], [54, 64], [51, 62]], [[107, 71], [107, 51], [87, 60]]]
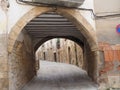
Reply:
[[9, 0], [9, 3], [8, 31], [10, 32], [11, 28], [17, 23], [17, 21], [31, 10], [33, 6], [17, 4], [16, 0]]

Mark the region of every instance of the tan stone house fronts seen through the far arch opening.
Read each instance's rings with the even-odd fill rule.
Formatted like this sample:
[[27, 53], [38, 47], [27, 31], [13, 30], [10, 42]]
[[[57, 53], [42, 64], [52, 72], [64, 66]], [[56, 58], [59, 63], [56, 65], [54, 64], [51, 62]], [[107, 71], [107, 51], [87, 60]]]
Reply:
[[80, 68], [83, 67], [82, 48], [68, 39], [57, 38], [45, 42], [36, 51], [36, 59], [73, 64]]

